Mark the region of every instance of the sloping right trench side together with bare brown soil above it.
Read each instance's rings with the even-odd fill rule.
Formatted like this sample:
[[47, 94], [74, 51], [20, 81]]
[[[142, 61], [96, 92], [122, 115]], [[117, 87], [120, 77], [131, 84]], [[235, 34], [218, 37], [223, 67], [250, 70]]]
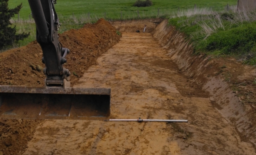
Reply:
[[167, 50], [182, 74], [210, 93], [212, 105], [236, 127], [242, 141], [250, 141], [255, 147], [255, 67], [232, 58], [193, 56], [193, 47], [185, 40], [185, 35], [168, 26], [167, 20], [161, 22], [152, 35]]

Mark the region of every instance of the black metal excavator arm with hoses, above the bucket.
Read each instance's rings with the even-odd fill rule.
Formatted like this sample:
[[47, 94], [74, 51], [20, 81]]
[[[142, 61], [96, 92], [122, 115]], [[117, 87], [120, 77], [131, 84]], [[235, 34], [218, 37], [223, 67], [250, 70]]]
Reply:
[[63, 80], [69, 81], [70, 72], [63, 67], [69, 49], [60, 47], [58, 30], [59, 18], [55, 12], [54, 0], [28, 0], [36, 23], [36, 41], [43, 51], [46, 85], [63, 86]]

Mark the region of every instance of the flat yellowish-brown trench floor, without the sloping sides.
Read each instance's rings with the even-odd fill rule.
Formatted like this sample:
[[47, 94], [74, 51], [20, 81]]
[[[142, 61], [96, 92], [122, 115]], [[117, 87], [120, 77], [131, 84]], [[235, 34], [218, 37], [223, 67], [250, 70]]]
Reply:
[[[150, 33], [123, 33], [76, 87], [111, 87], [113, 119], [188, 123], [54, 120], [41, 123], [24, 155], [252, 155], [207, 93], [178, 72]], [[201, 95], [199, 95], [201, 94]]]

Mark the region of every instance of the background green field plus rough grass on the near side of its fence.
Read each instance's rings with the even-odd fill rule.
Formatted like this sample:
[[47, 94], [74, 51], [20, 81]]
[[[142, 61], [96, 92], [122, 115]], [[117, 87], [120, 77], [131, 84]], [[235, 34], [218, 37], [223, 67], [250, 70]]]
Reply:
[[[105, 17], [107, 20], [129, 20], [138, 19], [137, 10], [139, 10], [140, 18], [169, 18], [171, 15], [180, 11], [192, 9], [194, 5], [197, 8], [212, 8], [215, 11], [223, 11], [225, 5], [236, 5], [237, 0], [152, 0], [151, 7], [133, 7], [136, 0], [57, 0], [55, 9], [61, 21], [61, 29], [59, 33], [63, 33], [69, 29], [78, 29], [83, 24], [88, 22], [96, 22], [99, 18]], [[18, 16], [13, 18], [14, 25], [16, 25], [17, 33], [30, 32], [30, 36], [24, 40], [19, 41], [10, 48], [21, 47], [27, 45], [29, 42], [35, 40], [35, 23], [33, 19], [28, 21], [30, 15], [30, 8], [28, 0], [9, 0], [9, 8], [14, 8], [22, 3], [20, 11], [20, 21]], [[159, 16], [158, 16], [159, 9]], [[73, 18], [74, 12], [74, 18]], [[90, 17], [88, 17], [90, 12]], [[121, 18], [122, 12], [122, 18]]]

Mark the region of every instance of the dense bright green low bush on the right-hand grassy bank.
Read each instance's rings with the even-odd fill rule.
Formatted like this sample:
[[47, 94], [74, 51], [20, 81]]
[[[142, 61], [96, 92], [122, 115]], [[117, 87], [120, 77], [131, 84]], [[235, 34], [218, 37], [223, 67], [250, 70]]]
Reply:
[[256, 24], [246, 24], [243, 27], [219, 31], [202, 40], [197, 45], [199, 51], [219, 50], [224, 54], [244, 54], [256, 49]]

